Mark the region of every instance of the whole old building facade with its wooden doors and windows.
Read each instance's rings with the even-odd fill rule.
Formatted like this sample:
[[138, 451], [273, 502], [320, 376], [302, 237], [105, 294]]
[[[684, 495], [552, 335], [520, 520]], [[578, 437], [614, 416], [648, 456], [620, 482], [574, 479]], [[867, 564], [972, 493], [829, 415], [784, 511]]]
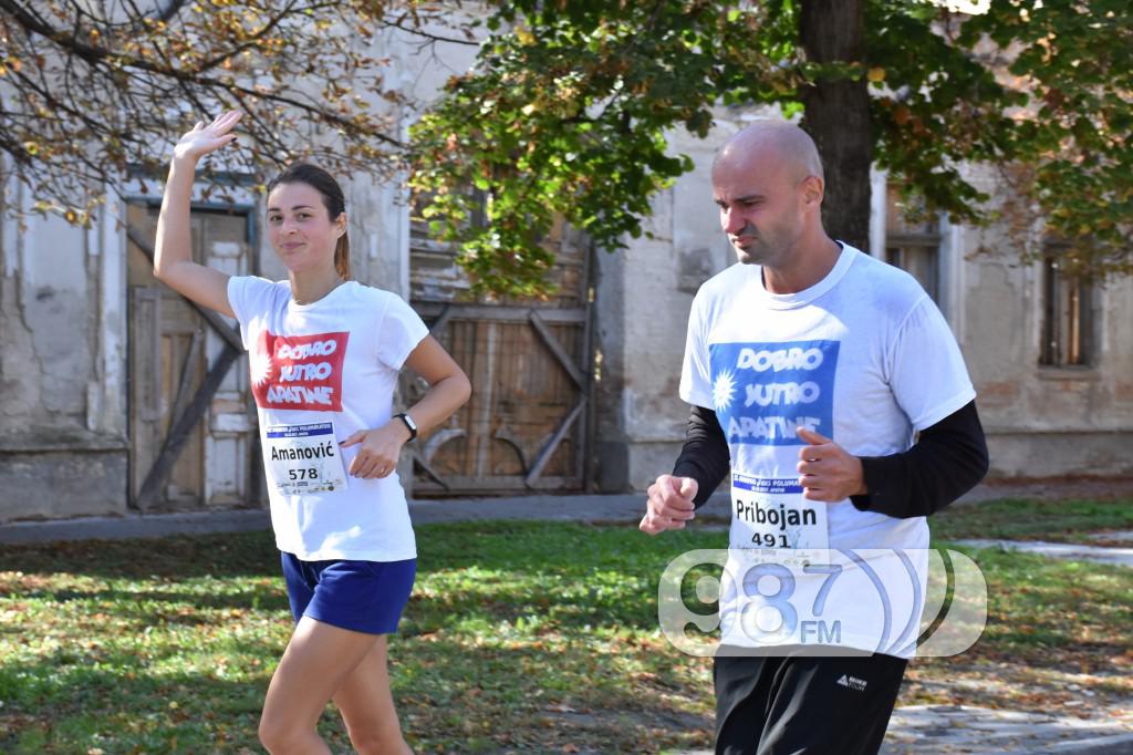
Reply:
[[[427, 100], [448, 71], [387, 44], [404, 86]], [[452, 54], [457, 68], [470, 62]], [[709, 166], [755, 116], [718, 114], [708, 139], [673, 135], [696, 169], [657, 197], [651, 238], [608, 254], [557, 229], [548, 243], [561, 288], [550, 302], [469, 299], [452, 251], [414, 223], [395, 183], [346, 181], [356, 277], [409, 299], [476, 387], [407, 455], [400, 472], [417, 494], [640, 490], [671, 468], [688, 417], [678, 381], [689, 306], [733, 262]], [[153, 195], [123, 178], [88, 229], [19, 219], [10, 211], [31, 197], [9, 166], [0, 170], [0, 521], [261, 506], [239, 338], [231, 321], [153, 279]], [[973, 177], [995, 193], [990, 175]], [[262, 197], [239, 181], [231, 194], [235, 204], [195, 204], [196, 258], [283, 278], [261, 230]], [[1133, 474], [1123, 451], [1133, 441], [1133, 281], [1021, 264], [1003, 229], [913, 223], [884, 175], [874, 197], [868, 252], [917, 275], [952, 325], [991, 474]], [[418, 388], [407, 380], [404, 398]]]

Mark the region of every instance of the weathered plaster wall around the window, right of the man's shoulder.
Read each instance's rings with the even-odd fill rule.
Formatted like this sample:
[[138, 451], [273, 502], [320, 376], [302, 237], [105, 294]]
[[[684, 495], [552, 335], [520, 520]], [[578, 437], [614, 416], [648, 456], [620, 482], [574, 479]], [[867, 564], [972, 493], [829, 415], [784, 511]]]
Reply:
[[[994, 188], [990, 180], [986, 186]], [[1042, 271], [1019, 262], [1019, 243], [997, 228], [964, 236], [962, 343], [991, 475], [1133, 474], [1133, 280], [1094, 290], [1090, 366], [1043, 366]]]

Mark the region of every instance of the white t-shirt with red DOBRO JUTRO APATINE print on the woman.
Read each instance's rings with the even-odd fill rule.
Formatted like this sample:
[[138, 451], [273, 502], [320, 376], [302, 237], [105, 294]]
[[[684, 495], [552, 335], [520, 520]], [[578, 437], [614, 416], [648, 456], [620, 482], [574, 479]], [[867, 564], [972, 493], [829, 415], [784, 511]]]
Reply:
[[288, 281], [233, 277], [228, 299], [248, 350], [275, 544], [305, 561], [416, 558], [397, 473], [350, 477], [360, 444], [338, 444], [390, 421], [425, 323], [395, 294], [356, 281], [296, 304]]

